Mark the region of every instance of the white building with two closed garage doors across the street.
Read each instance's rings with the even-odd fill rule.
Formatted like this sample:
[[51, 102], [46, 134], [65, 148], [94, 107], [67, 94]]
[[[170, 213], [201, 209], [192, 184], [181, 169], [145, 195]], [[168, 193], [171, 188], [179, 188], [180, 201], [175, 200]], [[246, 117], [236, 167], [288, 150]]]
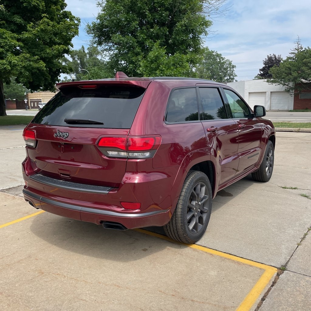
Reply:
[[266, 110], [290, 110], [294, 108], [294, 97], [285, 92], [284, 86], [272, 85], [267, 80], [249, 80], [227, 83], [233, 87], [253, 109], [262, 105]]

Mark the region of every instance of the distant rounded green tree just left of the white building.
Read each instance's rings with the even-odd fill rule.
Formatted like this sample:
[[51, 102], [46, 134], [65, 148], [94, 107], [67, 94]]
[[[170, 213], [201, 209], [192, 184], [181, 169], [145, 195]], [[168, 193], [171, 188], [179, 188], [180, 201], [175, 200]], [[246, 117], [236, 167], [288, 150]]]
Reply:
[[203, 60], [196, 67], [197, 77], [210, 79], [217, 82], [233, 82], [237, 76], [234, 72], [236, 68], [232, 61], [224, 58], [220, 53], [205, 48]]

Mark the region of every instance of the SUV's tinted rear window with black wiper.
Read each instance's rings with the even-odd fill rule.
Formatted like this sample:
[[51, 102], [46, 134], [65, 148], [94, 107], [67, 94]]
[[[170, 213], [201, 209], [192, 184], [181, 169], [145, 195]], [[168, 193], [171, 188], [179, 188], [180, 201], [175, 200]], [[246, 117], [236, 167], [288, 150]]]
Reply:
[[[87, 128], [130, 128], [144, 92], [144, 88], [135, 86], [105, 85], [97, 86], [96, 89], [62, 87], [36, 114], [32, 123]], [[94, 124], [88, 120], [94, 121]]]

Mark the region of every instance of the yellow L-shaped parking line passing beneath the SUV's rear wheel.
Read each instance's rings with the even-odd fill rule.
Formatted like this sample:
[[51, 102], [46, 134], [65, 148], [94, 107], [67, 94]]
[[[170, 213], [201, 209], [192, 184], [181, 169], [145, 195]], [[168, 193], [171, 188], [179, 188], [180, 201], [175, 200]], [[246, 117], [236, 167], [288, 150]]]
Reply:
[[[149, 235], [155, 236], [157, 238], [170, 241], [170, 242], [179, 243], [179, 242], [176, 242], [176, 241], [170, 239], [169, 237], [161, 235], [161, 234], [157, 234], [157, 233], [142, 230], [142, 229], [135, 229], [135, 230], [138, 232], [144, 233], [144, 234], [149, 234]], [[262, 276], [259, 278], [259, 280], [254, 285], [254, 287], [250, 290], [248, 295], [244, 298], [244, 300], [239, 305], [239, 307], [236, 309], [236, 311], [248, 311], [248, 310], [250, 310], [251, 307], [253, 306], [253, 304], [258, 299], [259, 295], [262, 293], [262, 291], [268, 285], [268, 283], [270, 282], [270, 280], [272, 279], [274, 274], [277, 272], [277, 269], [275, 267], [264, 265], [262, 263], [254, 262], [254, 261], [251, 261], [251, 260], [248, 260], [245, 258], [240, 258], [240, 257], [234, 256], [234, 255], [222, 253], [220, 251], [216, 251], [215, 249], [207, 248], [207, 247], [200, 246], [197, 244], [184, 244], [184, 243], [179, 243], [179, 244], [183, 244], [183, 245], [188, 246], [190, 248], [198, 249], [198, 250], [206, 252], [206, 253], [217, 255], [217, 256], [227, 258], [230, 260], [234, 260], [237, 262], [241, 262], [241, 263], [244, 263], [246, 265], [257, 267], [257, 268], [264, 270]]]

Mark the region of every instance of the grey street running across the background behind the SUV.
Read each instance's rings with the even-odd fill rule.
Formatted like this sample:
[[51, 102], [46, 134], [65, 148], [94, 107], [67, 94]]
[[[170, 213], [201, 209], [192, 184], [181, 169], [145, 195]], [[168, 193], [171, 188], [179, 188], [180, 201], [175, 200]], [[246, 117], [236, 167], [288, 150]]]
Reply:
[[[7, 110], [7, 115], [35, 116], [38, 110]], [[311, 122], [311, 112], [267, 112], [265, 117], [275, 122]]]

